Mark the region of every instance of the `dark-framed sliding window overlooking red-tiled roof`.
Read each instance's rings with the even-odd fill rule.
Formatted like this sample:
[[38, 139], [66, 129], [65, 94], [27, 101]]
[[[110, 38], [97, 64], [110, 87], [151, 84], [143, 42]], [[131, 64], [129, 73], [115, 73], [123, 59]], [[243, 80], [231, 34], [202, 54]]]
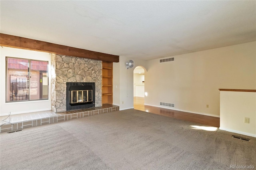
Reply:
[[6, 57], [6, 102], [48, 99], [48, 61]]

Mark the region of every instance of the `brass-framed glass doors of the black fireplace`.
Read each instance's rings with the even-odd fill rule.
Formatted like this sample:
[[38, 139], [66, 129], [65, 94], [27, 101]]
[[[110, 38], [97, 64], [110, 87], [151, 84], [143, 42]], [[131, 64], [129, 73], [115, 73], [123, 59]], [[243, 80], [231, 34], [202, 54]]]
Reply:
[[72, 90], [70, 103], [86, 103], [92, 101], [92, 90]]

